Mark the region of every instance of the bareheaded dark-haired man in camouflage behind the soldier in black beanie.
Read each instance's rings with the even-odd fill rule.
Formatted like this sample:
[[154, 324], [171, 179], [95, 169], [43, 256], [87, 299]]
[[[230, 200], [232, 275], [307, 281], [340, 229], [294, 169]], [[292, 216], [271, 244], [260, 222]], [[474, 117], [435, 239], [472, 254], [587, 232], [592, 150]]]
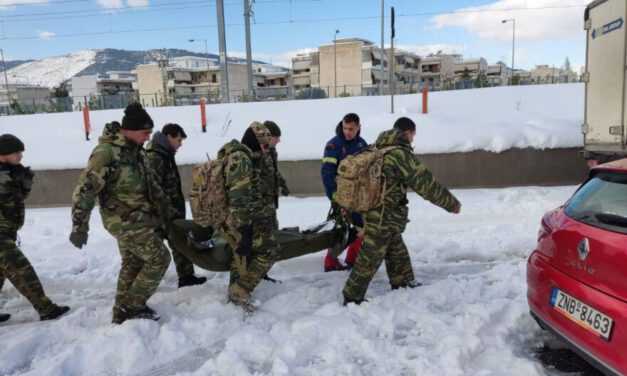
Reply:
[[[176, 210], [174, 219], [185, 219], [185, 196], [181, 189], [181, 176], [174, 155], [186, 138], [185, 130], [180, 125], [166, 124], [161, 132], [156, 132], [146, 145], [148, 162], [155, 172], [157, 183], [163, 188]], [[194, 275], [194, 264], [178, 252], [170, 241], [168, 244], [172, 249], [172, 259], [179, 277], [179, 288], [205, 283], [206, 277]]]

